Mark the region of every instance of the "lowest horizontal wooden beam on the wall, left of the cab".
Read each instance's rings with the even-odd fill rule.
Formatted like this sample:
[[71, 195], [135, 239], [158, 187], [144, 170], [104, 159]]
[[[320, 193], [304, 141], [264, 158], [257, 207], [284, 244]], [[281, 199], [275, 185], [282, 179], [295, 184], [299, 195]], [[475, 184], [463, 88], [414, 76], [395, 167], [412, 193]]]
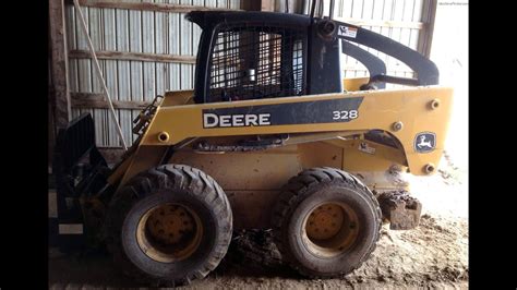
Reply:
[[[95, 109], [108, 109], [108, 101], [105, 100], [103, 94], [96, 93], [71, 93], [72, 107], [73, 108], [95, 108]], [[113, 107], [116, 109], [133, 109], [142, 110], [151, 101], [136, 101], [136, 100], [113, 100]]]

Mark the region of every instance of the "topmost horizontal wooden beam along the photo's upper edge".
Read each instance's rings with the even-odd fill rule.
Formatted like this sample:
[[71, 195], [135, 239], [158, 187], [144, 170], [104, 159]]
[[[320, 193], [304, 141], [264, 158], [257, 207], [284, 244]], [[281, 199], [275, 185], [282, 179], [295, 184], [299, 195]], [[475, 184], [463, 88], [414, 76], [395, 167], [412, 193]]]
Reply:
[[[67, 3], [72, 3], [72, 0], [67, 0]], [[157, 12], [175, 12], [189, 13], [191, 11], [236, 11], [236, 9], [224, 8], [207, 8], [201, 5], [181, 5], [168, 3], [151, 3], [151, 2], [121, 2], [117, 0], [79, 0], [82, 7], [93, 8], [111, 8], [111, 9], [127, 9], [140, 11], [157, 11]]]

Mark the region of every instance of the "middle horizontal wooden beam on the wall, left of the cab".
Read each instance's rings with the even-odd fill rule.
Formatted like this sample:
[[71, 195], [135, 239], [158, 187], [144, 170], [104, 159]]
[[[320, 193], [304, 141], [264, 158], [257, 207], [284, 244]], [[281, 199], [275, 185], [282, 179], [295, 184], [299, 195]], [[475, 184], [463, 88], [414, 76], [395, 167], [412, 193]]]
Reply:
[[[194, 56], [178, 56], [178, 55], [158, 55], [158, 53], [143, 53], [143, 52], [122, 52], [100, 50], [95, 51], [98, 59], [110, 60], [139, 60], [139, 61], [157, 61], [157, 62], [176, 62], [195, 64]], [[89, 59], [92, 55], [87, 50], [70, 50], [69, 58], [71, 59]]]

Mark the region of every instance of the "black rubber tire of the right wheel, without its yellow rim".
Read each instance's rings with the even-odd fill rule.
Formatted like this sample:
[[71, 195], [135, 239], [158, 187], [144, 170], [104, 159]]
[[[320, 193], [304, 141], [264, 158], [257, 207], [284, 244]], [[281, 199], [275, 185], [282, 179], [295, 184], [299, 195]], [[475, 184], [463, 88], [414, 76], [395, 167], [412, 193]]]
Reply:
[[[310, 252], [302, 240], [305, 216], [318, 204], [340, 202], [356, 212], [358, 238], [333, 257]], [[273, 212], [274, 238], [282, 259], [311, 278], [341, 277], [370, 257], [380, 238], [382, 213], [372, 192], [359, 179], [335, 168], [313, 168], [289, 180]]]

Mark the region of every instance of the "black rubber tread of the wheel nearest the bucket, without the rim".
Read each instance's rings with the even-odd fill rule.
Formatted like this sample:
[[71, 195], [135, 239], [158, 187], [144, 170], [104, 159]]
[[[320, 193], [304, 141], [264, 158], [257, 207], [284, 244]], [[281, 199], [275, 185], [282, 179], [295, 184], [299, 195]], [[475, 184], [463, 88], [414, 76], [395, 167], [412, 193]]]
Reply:
[[[140, 218], [164, 203], [185, 205], [201, 219], [201, 243], [183, 261], [156, 262], [137, 244]], [[135, 176], [113, 196], [106, 225], [116, 265], [142, 282], [175, 287], [202, 279], [217, 267], [231, 241], [232, 214], [225, 192], [212, 177], [190, 166], [164, 165]]]

